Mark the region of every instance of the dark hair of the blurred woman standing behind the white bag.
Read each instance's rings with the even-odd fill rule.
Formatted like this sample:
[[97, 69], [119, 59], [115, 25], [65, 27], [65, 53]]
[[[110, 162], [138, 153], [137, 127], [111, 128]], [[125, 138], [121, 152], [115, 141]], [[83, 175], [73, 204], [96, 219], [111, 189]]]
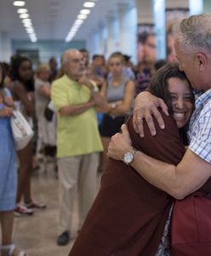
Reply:
[[[20, 69], [21, 63], [24, 62], [24, 61], [29, 61], [30, 64], [31, 64], [31, 60], [29, 58], [27, 58], [26, 56], [13, 55], [11, 57], [11, 73], [10, 73], [10, 77], [11, 77], [11, 79], [13, 81], [18, 80], [22, 84], [24, 84], [24, 86], [25, 86], [27, 91], [34, 91], [34, 79], [33, 79], [33, 76], [31, 76], [31, 79], [28, 80], [28, 81], [23, 81], [20, 78], [19, 69]], [[31, 66], [32, 66], [32, 64], [31, 64]]]

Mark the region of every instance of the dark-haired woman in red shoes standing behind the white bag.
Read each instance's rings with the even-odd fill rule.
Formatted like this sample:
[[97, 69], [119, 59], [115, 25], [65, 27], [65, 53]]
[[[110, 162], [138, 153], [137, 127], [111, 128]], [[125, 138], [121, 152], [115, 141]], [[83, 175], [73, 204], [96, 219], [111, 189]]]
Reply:
[[[22, 112], [30, 125], [33, 125], [32, 118], [35, 116], [34, 108], [34, 79], [31, 61], [25, 56], [14, 55], [11, 61], [12, 95], [14, 104]], [[33, 142], [31, 141], [17, 151], [20, 168], [18, 177], [18, 191], [14, 215], [17, 217], [30, 216], [34, 210], [41, 210], [46, 207], [42, 203], [33, 201], [31, 196], [31, 172], [33, 169]], [[24, 205], [21, 200], [24, 200]]]

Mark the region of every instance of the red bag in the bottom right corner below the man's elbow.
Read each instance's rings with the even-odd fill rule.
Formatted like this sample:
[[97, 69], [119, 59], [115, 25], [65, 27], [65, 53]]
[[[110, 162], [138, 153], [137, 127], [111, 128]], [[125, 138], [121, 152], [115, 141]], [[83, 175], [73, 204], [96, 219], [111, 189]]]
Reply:
[[174, 204], [172, 256], [211, 255], [211, 195], [196, 192]]

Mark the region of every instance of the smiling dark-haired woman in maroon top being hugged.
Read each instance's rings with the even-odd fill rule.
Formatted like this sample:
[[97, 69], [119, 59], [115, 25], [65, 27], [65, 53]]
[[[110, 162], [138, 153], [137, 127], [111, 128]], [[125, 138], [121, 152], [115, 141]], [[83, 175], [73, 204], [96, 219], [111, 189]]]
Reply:
[[[128, 120], [133, 149], [124, 155], [123, 161], [108, 160], [100, 191], [70, 256], [168, 256], [170, 253], [168, 230], [174, 198], [140, 177], [131, 164], [137, 150], [170, 164], [180, 161], [185, 154], [185, 137], [180, 133], [184, 134], [191, 117], [194, 96], [185, 73], [180, 72], [176, 63], [160, 68], [151, 79], [149, 90], [162, 97], [171, 109], [171, 115], [164, 116], [166, 129], [151, 137], [144, 123], [142, 138], [134, 131], [132, 117]], [[122, 130], [125, 129], [123, 125]]]

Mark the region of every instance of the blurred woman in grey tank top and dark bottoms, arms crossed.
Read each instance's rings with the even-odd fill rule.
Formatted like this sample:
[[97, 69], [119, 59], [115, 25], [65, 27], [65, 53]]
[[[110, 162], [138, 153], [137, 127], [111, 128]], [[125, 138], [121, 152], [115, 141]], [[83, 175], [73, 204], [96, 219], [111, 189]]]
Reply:
[[103, 115], [100, 124], [100, 135], [104, 146], [103, 166], [107, 162], [107, 149], [111, 136], [120, 131], [127, 115], [132, 109], [135, 95], [134, 81], [123, 74], [124, 58], [121, 53], [113, 53], [109, 57], [108, 67], [111, 74], [101, 93], [106, 97], [111, 110]]

